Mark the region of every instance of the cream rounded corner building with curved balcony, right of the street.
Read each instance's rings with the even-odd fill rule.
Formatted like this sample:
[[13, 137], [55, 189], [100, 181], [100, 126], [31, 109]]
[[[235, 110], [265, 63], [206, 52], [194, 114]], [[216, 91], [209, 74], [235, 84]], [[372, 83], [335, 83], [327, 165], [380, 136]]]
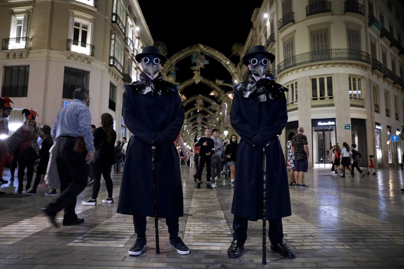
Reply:
[[[286, 85], [288, 124], [305, 128], [309, 166], [327, 167], [331, 145], [356, 143], [377, 167], [398, 167], [404, 145], [404, 12], [398, 0], [264, 0], [244, 53], [264, 45]], [[243, 73], [241, 64], [238, 70]]]

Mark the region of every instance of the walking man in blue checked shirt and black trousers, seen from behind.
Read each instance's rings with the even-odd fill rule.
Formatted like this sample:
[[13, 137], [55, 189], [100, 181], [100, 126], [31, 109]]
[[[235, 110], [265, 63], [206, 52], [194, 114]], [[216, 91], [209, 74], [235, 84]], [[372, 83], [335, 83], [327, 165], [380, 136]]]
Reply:
[[[61, 195], [48, 204], [44, 213], [50, 222], [58, 227], [56, 213], [64, 208], [63, 226], [77, 225], [84, 222], [75, 212], [76, 199], [87, 186], [89, 165], [94, 158], [94, 137], [91, 131], [91, 116], [88, 105], [90, 97], [84, 88], [73, 92], [73, 102], [62, 108], [57, 114], [51, 136], [56, 145], [52, 153], [56, 160], [60, 179]], [[83, 153], [73, 151], [78, 137], [84, 137], [87, 150]]]

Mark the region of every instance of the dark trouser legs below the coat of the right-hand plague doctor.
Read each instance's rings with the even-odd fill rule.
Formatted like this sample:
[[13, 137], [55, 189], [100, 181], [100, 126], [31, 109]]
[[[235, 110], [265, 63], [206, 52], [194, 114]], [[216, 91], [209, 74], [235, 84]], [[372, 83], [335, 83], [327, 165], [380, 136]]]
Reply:
[[[247, 240], [248, 220], [234, 215], [233, 220], [233, 239], [244, 244]], [[262, 235], [262, 232], [261, 232]], [[282, 218], [269, 221], [268, 236], [271, 244], [278, 244], [283, 240]]]

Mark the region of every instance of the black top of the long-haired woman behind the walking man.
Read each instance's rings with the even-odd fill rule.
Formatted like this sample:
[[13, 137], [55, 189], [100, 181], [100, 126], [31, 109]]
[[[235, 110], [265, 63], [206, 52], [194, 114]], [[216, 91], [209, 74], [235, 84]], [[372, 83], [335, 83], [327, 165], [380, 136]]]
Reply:
[[[103, 127], [98, 127], [94, 131], [94, 147], [95, 151], [99, 151], [99, 159], [95, 162], [100, 162], [102, 164], [114, 164], [116, 163], [115, 155], [115, 141], [116, 132], [112, 129], [111, 141], [107, 141], [107, 134]], [[97, 155], [97, 153], [95, 154]]]

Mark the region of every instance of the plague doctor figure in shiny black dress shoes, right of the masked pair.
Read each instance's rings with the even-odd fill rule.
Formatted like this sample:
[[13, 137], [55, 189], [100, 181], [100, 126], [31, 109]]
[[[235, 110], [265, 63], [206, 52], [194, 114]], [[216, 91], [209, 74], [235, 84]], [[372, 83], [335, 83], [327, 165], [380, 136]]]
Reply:
[[244, 250], [248, 221], [262, 219], [263, 147], [266, 155], [266, 219], [269, 221], [271, 250], [286, 258], [293, 251], [283, 243], [282, 217], [290, 216], [288, 176], [278, 139], [288, 121], [287, 91], [275, 82], [269, 65], [275, 60], [264, 46], [254, 46], [243, 57], [250, 69], [248, 81], [234, 87], [230, 122], [241, 137], [237, 150], [237, 184], [231, 213], [234, 214], [233, 241], [227, 250], [237, 258]]

